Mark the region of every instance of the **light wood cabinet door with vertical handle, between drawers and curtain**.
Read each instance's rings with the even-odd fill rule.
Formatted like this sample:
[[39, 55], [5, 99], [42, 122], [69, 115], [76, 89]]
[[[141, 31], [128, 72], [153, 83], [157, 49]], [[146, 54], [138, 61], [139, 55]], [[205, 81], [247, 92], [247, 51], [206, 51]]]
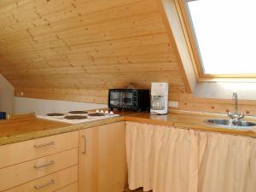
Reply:
[[125, 123], [79, 131], [79, 192], [125, 188]]

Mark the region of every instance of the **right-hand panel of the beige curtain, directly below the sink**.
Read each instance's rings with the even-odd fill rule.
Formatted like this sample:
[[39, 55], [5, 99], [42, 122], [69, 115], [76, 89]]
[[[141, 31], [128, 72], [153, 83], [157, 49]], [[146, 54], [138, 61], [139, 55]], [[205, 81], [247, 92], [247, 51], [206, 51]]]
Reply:
[[198, 132], [200, 192], [256, 192], [256, 139]]

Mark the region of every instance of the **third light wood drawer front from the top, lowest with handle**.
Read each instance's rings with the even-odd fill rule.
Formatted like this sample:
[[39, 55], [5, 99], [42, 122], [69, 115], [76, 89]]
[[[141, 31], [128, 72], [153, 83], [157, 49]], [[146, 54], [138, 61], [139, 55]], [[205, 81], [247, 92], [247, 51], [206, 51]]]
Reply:
[[[62, 170], [61, 172], [52, 173], [46, 177], [38, 178], [32, 182], [22, 184], [9, 190], [5, 190], [4, 192], [53, 192], [57, 189], [66, 189], [67, 187], [65, 186], [71, 183], [77, 183], [77, 181], [78, 166], [72, 166]], [[71, 192], [72, 190], [67, 191]], [[73, 192], [75, 191], [76, 190], [73, 190]]]

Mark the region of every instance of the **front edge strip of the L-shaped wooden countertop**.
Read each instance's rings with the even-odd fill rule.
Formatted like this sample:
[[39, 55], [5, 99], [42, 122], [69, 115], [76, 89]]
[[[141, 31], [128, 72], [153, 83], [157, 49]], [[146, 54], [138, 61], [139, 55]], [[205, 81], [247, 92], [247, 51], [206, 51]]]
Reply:
[[67, 126], [56, 127], [56, 128], [47, 129], [47, 130], [27, 131], [26, 133], [21, 133], [19, 135], [0, 137], [0, 146], [11, 144], [11, 143], [25, 142], [25, 141], [37, 139], [40, 137], [54, 136], [57, 134], [63, 134], [71, 131], [79, 131], [79, 130], [100, 126], [100, 125], [113, 124], [121, 121], [131, 121], [131, 122], [151, 124], [151, 125], [161, 125], [161, 126], [172, 126], [172, 127], [177, 127], [181, 129], [190, 129], [195, 131], [212, 131], [212, 132], [244, 136], [244, 137], [256, 137], [255, 131], [233, 130], [233, 129], [227, 129], [222, 127], [216, 127], [214, 125], [202, 125], [200, 123], [196, 124], [196, 123], [188, 123], [188, 122], [187, 123], [174, 122], [172, 120], [165, 121], [161, 119], [150, 119], [150, 118], [145, 118], [143, 116], [139, 116], [136, 114], [135, 115], [128, 114], [128, 115], [113, 117], [110, 119], [99, 119], [96, 121], [87, 122], [79, 125], [70, 124]]

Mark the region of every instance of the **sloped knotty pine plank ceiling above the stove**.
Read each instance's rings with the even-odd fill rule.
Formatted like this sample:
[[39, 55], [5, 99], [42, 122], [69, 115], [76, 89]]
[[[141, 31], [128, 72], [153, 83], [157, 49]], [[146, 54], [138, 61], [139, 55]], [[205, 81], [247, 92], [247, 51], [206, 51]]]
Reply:
[[109, 88], [186, 79], [158, 0], [2, 0], [0, 72], [16, 96], [105, 103]]

